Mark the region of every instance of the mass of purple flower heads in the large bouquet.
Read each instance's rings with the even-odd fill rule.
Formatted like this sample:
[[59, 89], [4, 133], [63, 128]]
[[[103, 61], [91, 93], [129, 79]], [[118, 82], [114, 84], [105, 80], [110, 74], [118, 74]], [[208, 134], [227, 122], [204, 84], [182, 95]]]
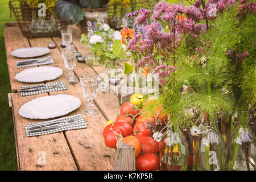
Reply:
[[[243, 4], [248, 0], [241, 0]], [[159, 83], [163, 85], [166, 78], [175, 71], [172, 65], [164, 65], [164, 60], [174, 60], [175, 51], [188, 34], [194, 38], [199, 37], [208, 29], [208, 24], [201, 24], [201, 20], [216, 18], [215, 13], [222, 13], [234, 5], [235, 0], [197, 0], [193, 6], [183, 4], [169, 4], [161, 1], [156, 4], [154, 12], [141, 9], [139, 12], [128, 14], [129, 17], [137, 16], [134, 24], [134, 38], [129, 42], [127, 49], [137, 52], [140, 60], [136, 67], [151, 65], [154, 73], [159, 75]], [[203, 4], [202, 4], [203, 3]], [[241, 9], [255, 12], [253, 2], [247, 3]], [[128, 16], [127, 15], [127, 16]], [[214, 15], [214, 16], [212, 16]], [[150, 19], [151, 17], [151, 19]], [[204, 49], [196, 48], [196, 52], [203, 53]], [[155, 58], [154, 56], [164, 57]], [[241, 56], [245, 56], [243, 53]], [[162, 60], [161, 60], [162, 59]], [[162, 63], [159, 63], [159, 60]], [[159, 65], [161, 64], [161, 65]]]

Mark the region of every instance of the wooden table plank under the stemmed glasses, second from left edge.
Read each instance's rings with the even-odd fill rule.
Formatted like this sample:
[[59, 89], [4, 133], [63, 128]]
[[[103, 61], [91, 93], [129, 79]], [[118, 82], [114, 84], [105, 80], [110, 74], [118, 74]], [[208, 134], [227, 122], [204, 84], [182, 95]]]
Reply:
[[[31, 46], [45, 47], [49, 42], [52, 42], [51, 38], [30, 39]], [[66, 81], [66, 78], [69, 76], [68, 69], [64, 67], [63, 59], [58, 48], [51, 49], [50, 55], [53, 57], [55, 65], [63, 69], [63, 75], [54, 81], [64, 80], [68, 90], [50, 92], [49, 94], [70, 94], [79, 98], [82, 103], [81, 106], [77, 110], [67, 114], [67, 116], [83, 113], [85, 109], [88, 109], [86, 108], [88, 102], [82, 95], [80, 83], [69, 84]], [[86, 68], [83, 69], [86, 71]], [[94, 108], [98, 109], [96, 106]], [[88, 124], [87, 129], [64, 131], [77, 167], [80, 170], [113, 170], [114, 150], [105, 146], [102, 137], [102, 130], [104, 129], [106, 119], [101, 113], [94, 117], [84, 115], [84, 119]]]

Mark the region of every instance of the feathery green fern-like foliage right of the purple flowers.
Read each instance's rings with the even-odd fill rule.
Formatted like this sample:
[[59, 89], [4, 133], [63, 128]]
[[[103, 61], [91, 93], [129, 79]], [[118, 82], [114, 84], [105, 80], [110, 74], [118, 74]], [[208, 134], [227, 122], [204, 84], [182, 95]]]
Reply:
[[[224, 11], [199, 39], [187, 36], [176, 50], [175, 73], [160, 95], [173, 126], [191, 126], [193, 118], [186, 111], [194, 107], [200, 113], [255, 107], [256, 19], [255, 14], [243, 19], [237, 14], [237, 6]], [[237, 56], [245, 51], [247, 57]]]

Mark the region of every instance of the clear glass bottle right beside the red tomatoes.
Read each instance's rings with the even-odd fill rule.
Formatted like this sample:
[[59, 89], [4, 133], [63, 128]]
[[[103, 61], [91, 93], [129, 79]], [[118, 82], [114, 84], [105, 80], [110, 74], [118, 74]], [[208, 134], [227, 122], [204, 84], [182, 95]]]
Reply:
[[185, 171], [188, 143], [179, 128], [169, 128], [159, 143], [160, 171]]

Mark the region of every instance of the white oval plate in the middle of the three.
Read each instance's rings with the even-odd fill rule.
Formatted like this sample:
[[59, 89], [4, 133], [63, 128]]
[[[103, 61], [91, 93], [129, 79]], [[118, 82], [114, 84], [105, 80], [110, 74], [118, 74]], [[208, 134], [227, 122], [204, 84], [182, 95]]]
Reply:
[[15, 75], [15, 79], [22, 82], [35, 83], [54, 80], [61, 76], [62, 69], [58, 67], [35, 67], [24, 69]]

